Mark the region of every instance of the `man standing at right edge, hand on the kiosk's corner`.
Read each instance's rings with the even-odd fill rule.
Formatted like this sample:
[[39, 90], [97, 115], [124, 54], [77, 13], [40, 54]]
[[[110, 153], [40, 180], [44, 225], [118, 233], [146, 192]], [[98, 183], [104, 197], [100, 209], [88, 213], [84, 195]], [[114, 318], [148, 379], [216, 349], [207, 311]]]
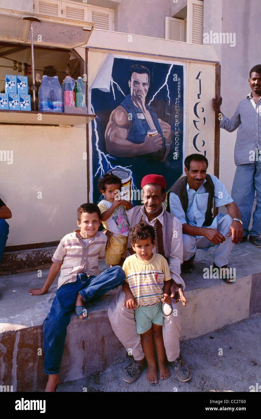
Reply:
[[[231, 196], [242, 217], [242, 241], [248, 239], [254, 246], [261, 248], [261, 64], [251, 68], [248, 83], [251, 93], [239, 102], [231, 119], [220, 112], [221, 96], [216, 101], [213, 98], [213, 108], [219, 114], [219, 119], [221, 116], [220, 128], [228, 132], [238, 128], [234, 151], [237, 168]], [[256, 209], [253, 213], [253, 227], [249, 231], [255, 191]]]

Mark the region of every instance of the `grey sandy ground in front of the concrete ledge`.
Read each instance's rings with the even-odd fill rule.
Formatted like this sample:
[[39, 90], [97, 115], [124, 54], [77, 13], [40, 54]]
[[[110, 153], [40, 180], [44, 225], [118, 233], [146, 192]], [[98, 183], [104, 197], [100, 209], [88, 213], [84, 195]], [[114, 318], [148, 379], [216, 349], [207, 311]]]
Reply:
[[[261, 391], [260, 315], [224, 327], [196, 339], [181, 342], [181, 354], [192, 378], [181, 383], [170, 365], [171, 376], [150, 384], [146, 368], [132, 384], [122, 380], [128, 357], [121, 358], [97, 375], [57, 386], [57, 392], [249, 392]], [[256, 385], [258, 383], [258, 385]]]

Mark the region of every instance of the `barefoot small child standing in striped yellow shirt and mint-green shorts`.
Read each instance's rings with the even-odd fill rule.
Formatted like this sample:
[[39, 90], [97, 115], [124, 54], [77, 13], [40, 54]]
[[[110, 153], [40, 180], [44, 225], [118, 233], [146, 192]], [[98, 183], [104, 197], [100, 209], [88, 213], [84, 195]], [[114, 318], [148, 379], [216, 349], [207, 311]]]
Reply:
[[130, 242], [136, 254], [129, 256], [122, 268], [126, 281], [122, 285], [125, 292], [124, 307], [134, 310], [137, 333], [140, 334], [142, 348], [148, 363], [147, 380], [158, 383], [153, 342], [157, 353], [160, 379], [169, 378], [165, 365], [162, 326], [164, 323], [161, 304], [171, 303], [171, 274], [166, 259], [152, 253], [155, 247], [154, 228], [140, 222], [129, 230]]

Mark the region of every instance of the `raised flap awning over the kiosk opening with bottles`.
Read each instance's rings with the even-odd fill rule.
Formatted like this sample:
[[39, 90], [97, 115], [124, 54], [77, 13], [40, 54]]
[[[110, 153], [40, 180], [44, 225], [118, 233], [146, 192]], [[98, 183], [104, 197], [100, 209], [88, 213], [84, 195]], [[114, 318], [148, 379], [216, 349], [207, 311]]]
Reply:
[[23, 19], [27, 16], [40, 21], [33, 22], [35, 46], [80, 47], [87, 44], [94, 26], [93, 22], [0, 8], [0, 41], [31, 44], [31, 23]]

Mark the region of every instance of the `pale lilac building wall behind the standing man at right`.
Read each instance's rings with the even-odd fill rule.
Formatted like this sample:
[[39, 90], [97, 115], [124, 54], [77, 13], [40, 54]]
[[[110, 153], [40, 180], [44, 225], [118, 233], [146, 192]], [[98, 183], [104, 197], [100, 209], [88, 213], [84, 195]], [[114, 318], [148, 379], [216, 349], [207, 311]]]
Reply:
[[[230, 0], [204, 0], [204, 32], [212, 30], [235, 34], [235, 47], [213, 44], [221, 64], [221, 110], [228, 118], [233, 116], [240, 100], [251, 91], [249, 70], [261, 62], [256, 49], [260, 41], [260, 31], [257, 30], [260, 14], [260, 0], [237, 2], [236, 7], [235, 2]], [[236, 131], [220, 130], [220, 180], [229, 193], [236, 168], [235, 140]]]

